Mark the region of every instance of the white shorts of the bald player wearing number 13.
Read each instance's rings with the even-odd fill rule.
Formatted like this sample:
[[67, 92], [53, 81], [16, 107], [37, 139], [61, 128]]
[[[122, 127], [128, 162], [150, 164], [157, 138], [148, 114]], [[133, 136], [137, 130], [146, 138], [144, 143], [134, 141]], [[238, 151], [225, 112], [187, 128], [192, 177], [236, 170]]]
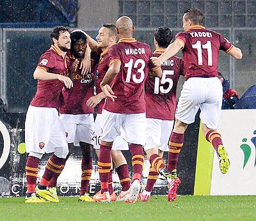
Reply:
[[145, 145], [146, 142], [146, 113], [118, 114], [102, 110], [102, 141], [113, 142], [121, 135], [126, 142]]

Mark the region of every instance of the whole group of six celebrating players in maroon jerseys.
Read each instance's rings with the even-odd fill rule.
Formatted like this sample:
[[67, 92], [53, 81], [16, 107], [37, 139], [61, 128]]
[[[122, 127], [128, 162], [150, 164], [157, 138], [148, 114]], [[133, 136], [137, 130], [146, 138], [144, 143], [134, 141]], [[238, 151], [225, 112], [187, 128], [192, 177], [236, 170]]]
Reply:
[[[25, 202], [59, 202], [56, 182], [74, 146], [82, 151], [80, 201], [147, 202], [159, 173], [168, 180], [168, 201], [175, 201], [178, 156], [198, 109], [202, 132], [220, 157], [221, 172], [227, 173], [230, 162], [216, 132], [222, 102], [218, 53], [224, 50], [241, 59], [242, 52], [221, 34], [205, 29], [197, 8], [185, 11], [182, 22], [184, 32], [173, 43], [170, 28], [156, 30], [153, 53], [147, 43], [133, 38], [132, 20], [125, 16], [115, 25], [100, 27], [97, 41], [81, 29], [53, 29], [52, 46], [34, 72], [38, 86], [26, 115]], [[183, 59], [175, 57], [179, 50]], [[180, 75], [186, 81], [176, 104]], [[101, 186], [93, 198], [88, 192], [92, 148], [99, 159]], [[132, 181], [122, 155], [125, 149], [132, 155]], [[151, 166], [147, 187], [140, 193], [143, 149]], [[163, 151], [168, 151], [167, 165]], [[40, 159], [52, 152], [36, 186]], [[122, 185], [118, 196], [111, 185], [112, 162]]]

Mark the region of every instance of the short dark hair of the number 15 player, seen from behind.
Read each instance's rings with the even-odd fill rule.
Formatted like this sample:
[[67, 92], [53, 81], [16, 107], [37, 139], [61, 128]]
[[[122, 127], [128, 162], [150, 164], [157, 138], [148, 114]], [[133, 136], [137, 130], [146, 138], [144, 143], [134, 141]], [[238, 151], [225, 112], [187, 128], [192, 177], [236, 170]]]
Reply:
[[169, 27], [159, 27], [154, 33], [154, 37], [159, 45], [159, 47], [168, 47], [172, 42], [173, 32]]

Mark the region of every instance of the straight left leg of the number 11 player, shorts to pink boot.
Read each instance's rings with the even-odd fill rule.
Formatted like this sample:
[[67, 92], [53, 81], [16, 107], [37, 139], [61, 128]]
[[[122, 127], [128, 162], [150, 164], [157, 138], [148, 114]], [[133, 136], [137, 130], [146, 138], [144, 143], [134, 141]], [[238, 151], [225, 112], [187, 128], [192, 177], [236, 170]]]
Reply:
[[184, 142], [184, 132], [188, 128], [188, 125], [195, 121], [195, 115], [199, 109], [199, 105], [204, 102], [205, 93], [207, 93], [207, 86], [202, 81], [204, 79], [200, 78], [186, 80], [180, 93], [175, 113], [175, 124], [169, 141], [168, 163], [166, 169], [159, 171], [163, 176], [168, 178], [168, 201], [175, 201], [177, 188], [180, 185], [180, 179], [177, 177], [177, 164]]

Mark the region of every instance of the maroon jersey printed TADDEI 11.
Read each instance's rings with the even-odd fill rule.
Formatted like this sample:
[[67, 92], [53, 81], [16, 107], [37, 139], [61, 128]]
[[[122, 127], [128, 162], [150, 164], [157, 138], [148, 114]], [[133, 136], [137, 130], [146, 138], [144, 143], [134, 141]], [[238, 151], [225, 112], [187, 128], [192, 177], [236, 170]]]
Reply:
[[233, 47], [221, 34], [203, 26], [192, 26], [175, 38], [184, 42], [182, 52], [186, 80], [189, 77], [218, 77], [219, 51], [228, 52]]

